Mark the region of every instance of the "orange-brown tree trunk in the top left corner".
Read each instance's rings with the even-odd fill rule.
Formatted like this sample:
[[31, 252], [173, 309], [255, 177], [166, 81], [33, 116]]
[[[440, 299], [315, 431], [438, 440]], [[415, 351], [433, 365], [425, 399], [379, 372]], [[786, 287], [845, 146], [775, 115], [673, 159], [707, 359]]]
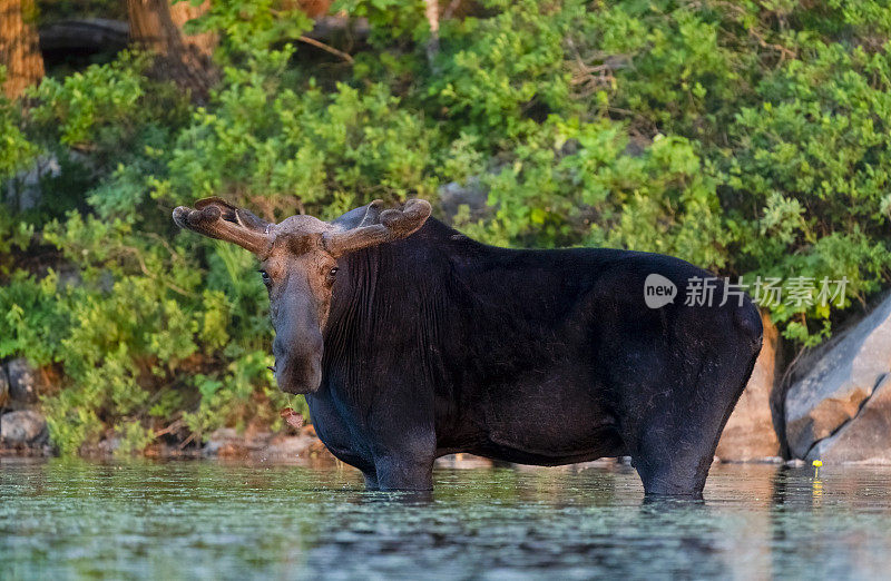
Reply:
[[33, 0], [0, 0], [0, 65], [7, 68], [3, 92], [10, 99], [43, 78], [36, 17]]

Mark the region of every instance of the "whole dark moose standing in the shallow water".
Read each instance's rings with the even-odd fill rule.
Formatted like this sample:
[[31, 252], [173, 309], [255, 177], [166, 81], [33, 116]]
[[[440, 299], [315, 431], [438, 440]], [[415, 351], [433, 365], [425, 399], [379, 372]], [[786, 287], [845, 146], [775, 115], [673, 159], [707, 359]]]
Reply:
[[647, 306], [650, 275], [725, 287], [669, 256], [499, 248], [425, 200], [382, 204], [330, 223], [267, 223], [216, 197], [173, 213], [260, 259], [276, 382], [305, 394], [319, 437], [370, 490], [431, 490], [433, 461], [468, 452], [545, 466], [630, 456], [647, 495], [702, 495], [761, 351], [743, 293]]

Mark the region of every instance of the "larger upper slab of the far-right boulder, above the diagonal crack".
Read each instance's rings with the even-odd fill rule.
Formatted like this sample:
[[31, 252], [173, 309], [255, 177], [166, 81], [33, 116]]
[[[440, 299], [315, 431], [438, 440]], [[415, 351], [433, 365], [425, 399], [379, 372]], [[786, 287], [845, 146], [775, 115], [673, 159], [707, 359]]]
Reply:
[[786, 439], [794, 457], [810, 457], [817, 442], [856, 416], [891, 372], [891, 297], [806, 361], [785, 400]]

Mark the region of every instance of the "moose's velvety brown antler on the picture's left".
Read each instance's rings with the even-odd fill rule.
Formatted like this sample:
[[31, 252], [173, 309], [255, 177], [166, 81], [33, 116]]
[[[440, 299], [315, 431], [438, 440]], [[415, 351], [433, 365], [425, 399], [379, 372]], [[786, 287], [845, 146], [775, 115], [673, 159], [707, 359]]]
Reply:
[[237, 244], [254, 254], [265, 253], [273, 238], [267, 223], [217, 197], [199, 199], [195, 209], [177, 207], [174, 221], [180, 228]]

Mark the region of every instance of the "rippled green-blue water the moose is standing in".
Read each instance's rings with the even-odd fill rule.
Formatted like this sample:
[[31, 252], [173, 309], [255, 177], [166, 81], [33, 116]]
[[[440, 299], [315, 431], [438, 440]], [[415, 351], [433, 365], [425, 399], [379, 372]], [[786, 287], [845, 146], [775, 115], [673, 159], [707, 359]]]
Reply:
[[714, 466], [705, 502], [628, 467], [435, 472], [0, 460], [0, 578], [888, 579], [891, 467]]

